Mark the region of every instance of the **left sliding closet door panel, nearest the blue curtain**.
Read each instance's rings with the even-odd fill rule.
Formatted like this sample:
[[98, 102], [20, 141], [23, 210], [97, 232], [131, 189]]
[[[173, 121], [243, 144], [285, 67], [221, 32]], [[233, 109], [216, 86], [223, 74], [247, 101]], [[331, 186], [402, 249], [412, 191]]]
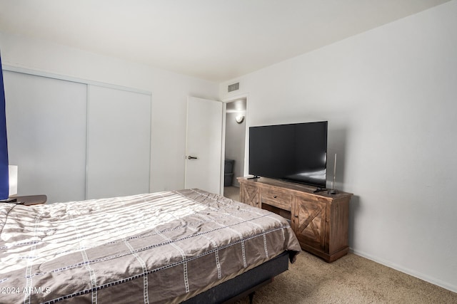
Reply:
[[4, 71], [9, 163], [18, 195], [85, 197], [87, 85]]

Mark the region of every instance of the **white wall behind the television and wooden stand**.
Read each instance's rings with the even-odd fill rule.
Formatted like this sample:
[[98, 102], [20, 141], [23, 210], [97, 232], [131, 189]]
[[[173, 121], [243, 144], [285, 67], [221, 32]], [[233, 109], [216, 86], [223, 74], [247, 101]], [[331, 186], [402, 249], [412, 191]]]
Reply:
[[454, 0], [236, 79], [251, 126], [329, 121], [355, 253], [453, 291], [456, 28]]

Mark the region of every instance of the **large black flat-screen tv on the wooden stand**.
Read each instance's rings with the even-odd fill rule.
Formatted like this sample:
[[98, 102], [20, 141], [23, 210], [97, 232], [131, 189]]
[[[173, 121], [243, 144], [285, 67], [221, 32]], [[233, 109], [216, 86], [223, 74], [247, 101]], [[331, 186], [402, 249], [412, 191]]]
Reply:
[[249, 174], [326, 187], [327, 122], [249, 127]]

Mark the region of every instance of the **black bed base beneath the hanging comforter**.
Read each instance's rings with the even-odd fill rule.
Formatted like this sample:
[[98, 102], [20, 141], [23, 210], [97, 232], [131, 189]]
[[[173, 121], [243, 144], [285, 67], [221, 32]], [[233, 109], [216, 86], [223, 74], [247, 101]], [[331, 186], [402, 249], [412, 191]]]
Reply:
[[204, 293], [199, 293], [194, 298], [184, 301], [183, 304], [233, 303], [248, 295], [252, 303], [254, 291], [273, 281], [273, 277], [288, 270], [288, 261], [289, 254], [284, 251], [276, 258], [272, 258], [256, 268], [246, 271], [246, 273], [241, 273], [229, 281], [216, 285]]

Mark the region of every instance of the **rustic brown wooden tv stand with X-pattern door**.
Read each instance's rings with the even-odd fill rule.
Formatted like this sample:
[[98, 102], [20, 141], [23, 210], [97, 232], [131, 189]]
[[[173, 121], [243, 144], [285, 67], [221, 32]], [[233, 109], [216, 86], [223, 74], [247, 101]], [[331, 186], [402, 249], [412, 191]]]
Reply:
[[331, 263], [349, 251], [349, 201], [353, 194], [259, 177], [238, 177], [240, 201], [288, 219], [301, 248]]

